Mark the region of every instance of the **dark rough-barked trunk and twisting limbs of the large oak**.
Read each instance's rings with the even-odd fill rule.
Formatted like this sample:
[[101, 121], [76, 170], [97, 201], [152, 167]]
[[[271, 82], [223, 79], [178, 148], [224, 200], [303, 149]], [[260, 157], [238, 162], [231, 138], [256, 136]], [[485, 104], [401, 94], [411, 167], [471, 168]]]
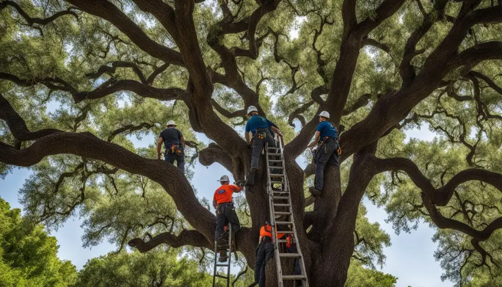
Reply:
[[[155, 88], [151, 85], [153, 78], [149, 77], [147, 79], [133, 65], [118, 62], [114, 63], [112, 68], [115, 66], [132, 67], [136, 73], [141, 74], [141, 82], [135, 80], [119, 81], [93, 91], [79, 92], [70, 84], [54, 77], [26, 80], [23, 79], [22, 75], [12, 75], [0, 71], [0, 79], [9, 80], [22, 86], [42, 84], [50, 89], [67, 91], [73, 95], [75, 103], [106, 97], [108, 94], [121, 90], [133, 91], [143, 97], [162, 101], [184, 101], [190, 111], [189, 119], [192, 128], [197, 132], [204, 133], [214, 141], [213, 144], [200, 152], [200, 162], [204, 165], [210, 165], [214, 162], [221, 163], [232, 172], [234, 178], [243, 179], [244, 174], [249, 169], [249, 152], [242, 138], [220, 119], [216, 111], [229, 118], [242, 117], [243, 112], [230, 113], [212, 100], [213, 86], [215, 83], [220, 83], [232, 88], [242, 97], [245, 106], [255, 105], [259, 107], [260, 111], [263, 111], [259, 105], [259, 93], [249, 88], [240, 76], [236, 58], [248, 57], [256, 59], [260, 54], [264, 38], [274, 35], [278, 37], [275, 32], [267, 33], [265, 36], [256, 35], [257, 26], [265, 15], [275, 11], [281, 5], [286, 6], [287, 4], [281, 0], [257, 1], [259, 6], [254, 13], [237, 20], [237, 17], [232, 15], [228, 9], [226, 1], [218, 2], [224, 18], [217, 24], [216, 29], [209, 32], [207, 42], [221, 59], [220, 66], [223, 68], [224, 73], [220, 73], [211, 67], [207, 67], [202, 58], [193, 19], [194, 7], [198, 5], [194, 0], [175, 0], [174, 6], [162, 0], [133, 1], [138, 8], [157, 18], [171, 35], [178, 50], [160, 45], [150, 39], [138, 25], [107, 0], [92, 2], [67, 0], [67, 2], [75, 7], [72, 10], [80, 10], [110, 22], [127, 35], [135, 45], [151, 56], [164, 61], [166, 64], [186, 68], [189, 74], [187, 88], [185, 90]], [[446, 0], [436, 1], [434, 4], [439, 14], [442, 14], [446, 2]], [[0, 2], [0, 10], [9, 5], [13, 6], [17, 11], [21, 10], [19, 6], [12, 3], [10, 1]], [[334, 71], [326, 75], [325, 63], [320, 58], [320, 50], [317, 51], [319, 55], [318, 62], [313, 64], [317, 64], [319, 75], [326, 80], [324, 85], [312, 91], [313, 102], [308, 103], [309, 107], [315, 103], [318, 111], [327, 110], [331, 115], [334, 115], [332, 120], [335, 124], [338, 124], [344, 113], [350, 113], [367, 103], [367, 95], [363, 95], [366, 98], [361, 97], [361, 99], [366, 99], [366, 101], [353, 108], [346, 107], [360, 49], [364, 45], [374, 45], [388, 51], [388, 47], [385, 45], [368, 39], [368, 34], [383, 21], [395, 15], [404, 3], [405, 0], [385, 0], [376, 9], [372, 18], [357, 19], [356, 0], [345, 0], [343, 2], [343, 23], [336, 24], [343, 25], [339, 60]], [[300, 231], [298, 240], [305, 255], [310, 286], [342, 287], [344, 285], [350, 258], [354, 250], [353, 233], [358, 207], [367, 184], [375, 174], [380, 172], [399, 169], [408, 173], [417, 186], [423, 190], [423, 203], [440, 228], [452, 228], [462, 231], [471, 236], [475, 242], [486, 240], [496, 229], [502, 228], [500, 223], [502, 219], [499, 219], [489, 224], [485, 230], [473, 230], [465, 224], [442, 217], [436, 209], [436, 206], [445, 205], [452, 197], [454, 188], [466, 180], [481, 180], [502, 190], [500, 174], [476, 169], [466, 170], [455, 176], [444, 187], [436, 190], [410, 160], [399, 158], [379, 159], [374, 155], [379, 139], [388, 134], [389, 130], [394, 129], [407, 117], [414, 106], [438, 88], [448, 72], [462, 67], [466, 74], [475, 64], [481, 61], [502, 59], [501, 42], [482, 43], [475, 48], [468, 48], [460, 53], [458, 52], [460, 44], [473, 25], [497, 24], [502, 21], [501, 5], [477, 9], [479, 3], [480, 1], [473, 0], [463, 2], [462, 9], [454, 19], [447, 36], [428, 56], [420, 72], [416, 73], [411, 60], [422, 52], [415, 50], [416, 44], [433, 25], [432, 21], [437, 21], [431, 15], [424, 15], [423, 24], [411, 35], [406, 44], [404, 55], [402, 55], [403, 61], [400, 65], [400, 74], [403, 79], [402, 88], [397, 91], [389, 91], [383, 95], [374, 103], [371, 112], [363, 121], [341, 135], [341, 146], [344, 151], [341, 161], [353, 156], [353, 164], [346, 189], [341, 190], [339, 170], [328, 167], [323, 194], [315, 199], [313, 212], [304, 212], [306, 205], [303, 190], [305, 174], [295, 162], [295, 159], [303, 152], [312, 138], [317, 119], [314, 118], [307, 122], [303, 120], [302, 122], [305, 124], [300, 133], [286, 145], [286, 168], [292, 192], [293, 211], [297, 228]], [[45, 20], [29, 20], [31, 18], [26, 13], [23, 14], [23, 17], [31, 25], [34, 23], [44, 25], [65, 15], [74, 16], [75, 14], [73, 11], [68, 10]], [[327, 19], [323, 19], [321, 29], [317, 33], [322, 32], [322, 25], [325, 24], [330, 25], [332, 23], [329, 23]], [[249, 44], [248, 49], [226, 47], [218, 41], [227, 34], [244, 32]], [[312, 45], [314, 49], [316, 49], [315, 44], [314, 40]], [[280, 58], [277, 51], [275, 52], [276, 61], [284, 60]], [[294, 68], [292, 65], [290, 67]], [[108, 69], [111, 68], [108, 67]], [[89, 76], [100, 75], [104, 71], [97, 71], [89, 74]], [[154, 73], [152, 76], [155, 77], [159, 72]], [[329, 81], [328, 78], [330, 78]], [[321, 99], [320, 95], [326, 95], [326, 100]], [[297, 110], [295, 114], [298, 115], [295, 115], [295, 117], [298, 118], [303, 111], [302, 109]], [[7, 122], [17, 141], [31, 141], [29, 147], [24, 149], [19, 149], [20, 146], [15, 147], [0, 142], [1, 162], [18, 166], [30, 166], [36, 164], [45, 156], [70, 153], [100, 160], [117, 168], [148, 176], [160, 183], [173, 198], [178, 210], [194, 230], [185, 230], [178, 236], [169, 233], [159, 234], [148, 242], [139, 238], [131, 240], [130, 244], [141, 252], [147, 252], [160, 244], [169, 244], [175, 247], [192, 245], [211, 248], [215, 217], [199, 204], [187, 179], [172, 165], [140, 157], [116, 144], [102, 141], [89, 133], [69, 133], [59, 130], [29, 131], [23, 119], [4, 97], [0, 97], [0, 119]], [[53, 144], [54, 142], [57, 142], [57, 144]], [[261, 160], [259, 170], [258, 184], [247, 188], [245, 194], [250, 215], [253, 219], [253, 226], [243, 228], [236, 238], [238, 251], [244, 255], [247, 264], [251, 267], [255, 263], [255, 248], [259, 237], [260, 223], [267, 220], [269, 214], [264, 180], [264, 160]], [[167, 172], [173, 175], [169, 180], [164, 176]], [[306, 232], [309, 228], [311, 228], [310, 231]], [[270, 264], [267, 286], [276, 285], [274, 268], [273, 264]]]

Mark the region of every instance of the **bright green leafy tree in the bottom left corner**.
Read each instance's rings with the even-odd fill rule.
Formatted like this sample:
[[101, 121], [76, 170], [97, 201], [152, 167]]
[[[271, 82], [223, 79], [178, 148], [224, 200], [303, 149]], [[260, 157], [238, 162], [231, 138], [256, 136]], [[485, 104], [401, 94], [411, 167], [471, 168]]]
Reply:
[[56, 238], [0, 198], [0, 286], [68, 287], [75, 266], [57, 257]]

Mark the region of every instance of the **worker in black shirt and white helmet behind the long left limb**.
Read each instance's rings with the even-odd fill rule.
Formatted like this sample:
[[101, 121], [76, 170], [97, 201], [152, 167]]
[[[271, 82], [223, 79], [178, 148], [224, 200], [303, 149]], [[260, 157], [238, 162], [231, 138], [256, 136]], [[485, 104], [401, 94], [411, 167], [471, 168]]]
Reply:
[[157, 159], [160, 159], [162, 143], [164, 143], [164, 147], [166, 148], [164, 160], [172, 164], [176, 160], [178, 168], [181, 172], [185, 173], [185, 139], [181, 132], [176, 129], [176, 124], [173, 120], [169, 121], [167, 129], [160, 133], [159, 141], [157, 142]]

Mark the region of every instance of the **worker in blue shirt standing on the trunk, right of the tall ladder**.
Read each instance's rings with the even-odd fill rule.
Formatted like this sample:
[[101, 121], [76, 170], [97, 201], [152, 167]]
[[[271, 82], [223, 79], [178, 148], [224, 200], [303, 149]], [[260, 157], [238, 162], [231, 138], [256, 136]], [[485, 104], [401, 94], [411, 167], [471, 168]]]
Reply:
[[319, 114], [319, 125], [317, 125], [314, 141], [307, 147], [312, 150], [318, 145], [314, 155], [315, 179], [314, 186], [309, 188], [313, 196], [321, 195], [324, 180], [324, 168], [326, 164], [339, 166], [338, 159], [338, 132], [333, 123], [329, 122], [329, 113], [322, 111]]

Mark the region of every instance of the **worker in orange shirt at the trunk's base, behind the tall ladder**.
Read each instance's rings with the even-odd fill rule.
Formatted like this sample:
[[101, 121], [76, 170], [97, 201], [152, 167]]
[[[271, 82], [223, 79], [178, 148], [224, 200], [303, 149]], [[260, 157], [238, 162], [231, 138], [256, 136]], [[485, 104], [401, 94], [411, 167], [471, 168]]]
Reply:
[[[277, 229], [275, 230], [277, 232]], [[281, 239], [285, 233], [277, 233], [277, 239]], [[265, 265], [270, 258], [274, 257], [274, 245], [272, 245], [272, 226], [268, 221], [265, 221], [260, 228], [260, 244], [256, 249], [255, 260], [255, 282], [259, 287], [265, 287]]]

